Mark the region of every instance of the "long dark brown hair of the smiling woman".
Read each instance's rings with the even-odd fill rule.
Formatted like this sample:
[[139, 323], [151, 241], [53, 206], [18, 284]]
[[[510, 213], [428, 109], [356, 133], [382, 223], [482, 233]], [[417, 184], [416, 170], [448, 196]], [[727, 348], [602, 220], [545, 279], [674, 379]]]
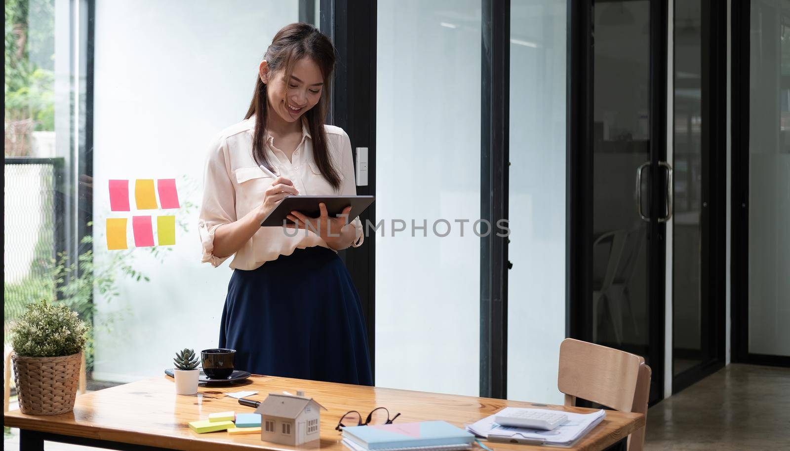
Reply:
[[[324, 87], [321, 99], [304, 115], [307, 117], [310, 137], [313, 141], [313, 156], [318, 170], [327, 182], [337, 190], [340, 188], [340, 175], [337, 168], [330, 161], [329, 150], [326, 144], [324, 131], [324, 118], [329, 105], [329, 92], [331, 92], [332, 72], [335, 66], [335, 47], [328, 37], [319, 32], [310, 24], [290, 24], [284, 26], [272, 39], [272, 45], [266, 50], [263, 58], [269, 66], [269, 73], [285, 70], [285, 82], [291, 80], [291, 73], [295, 62], [302, 58], [310, 58], [321, 70], [324, 77]], [[271, 77], [269, 78], [271, 80]], [[252, 155], [255, 163], [273, 170], [266, 156], [266, 113], [268, 106], [266, 84], [261, 81], [258, 73], [255, 77], [255, 91], [253, 92], [250, 109], [247, 110], [245, 119], [255, 115], [255, 133], [253, 135]]]

